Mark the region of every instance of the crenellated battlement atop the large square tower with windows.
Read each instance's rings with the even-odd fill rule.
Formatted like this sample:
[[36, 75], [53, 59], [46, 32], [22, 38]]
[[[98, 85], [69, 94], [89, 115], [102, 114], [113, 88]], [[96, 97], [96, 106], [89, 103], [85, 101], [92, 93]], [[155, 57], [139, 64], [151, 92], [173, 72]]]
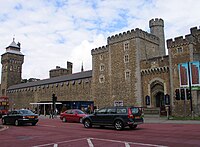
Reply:
[[121, 41], [129, 40], [132, 38], [142, 38], [145, 40], [148, 40], [150, 42], [154, 42], [156, 44], [159, 44], [159, 38], [155, 35], [152, 35], [148, 32], [145, 32], [139, 28], [136, 28], [135, 30], [132, 29], [131, 31], [119, 33], [116, 35], [112, 35], [111, 37], [107, 38], [108, 45], [118, 43]]

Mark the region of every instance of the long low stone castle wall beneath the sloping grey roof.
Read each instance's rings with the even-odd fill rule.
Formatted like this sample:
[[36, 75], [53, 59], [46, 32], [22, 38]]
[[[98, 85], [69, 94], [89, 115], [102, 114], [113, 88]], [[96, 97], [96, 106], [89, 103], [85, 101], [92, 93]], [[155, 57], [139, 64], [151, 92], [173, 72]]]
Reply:
[[30, 103], [51, 102], [52, 94], [57, 101], [88, 101], [91, 97], [91, 78], [38, 85], [8, 91], [10, 102], [15, 108], [31, 107]]

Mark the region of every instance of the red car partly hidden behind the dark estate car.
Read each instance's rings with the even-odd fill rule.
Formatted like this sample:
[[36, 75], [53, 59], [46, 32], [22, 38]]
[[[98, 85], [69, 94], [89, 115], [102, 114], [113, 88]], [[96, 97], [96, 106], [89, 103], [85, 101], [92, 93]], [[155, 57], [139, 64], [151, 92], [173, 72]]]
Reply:
[[79, 109], [69, 109], [60, 113], [60, 119], [63, 122], [80, 122], [87, 114]]

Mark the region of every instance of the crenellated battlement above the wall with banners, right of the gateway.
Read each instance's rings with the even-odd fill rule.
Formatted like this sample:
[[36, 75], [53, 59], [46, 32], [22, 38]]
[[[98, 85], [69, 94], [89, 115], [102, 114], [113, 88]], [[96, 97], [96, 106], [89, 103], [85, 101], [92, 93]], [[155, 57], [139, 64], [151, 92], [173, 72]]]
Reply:
[[193, 42], [194, 42], [194, 37], [191, 34], [185, 35], [185, 38], [183, 38], [183, 36], [179, 36], [179, 37], [176, 37], [174, 40], [168, 39], [167, 48], [183, 46], [183, 45], [187, 45]]

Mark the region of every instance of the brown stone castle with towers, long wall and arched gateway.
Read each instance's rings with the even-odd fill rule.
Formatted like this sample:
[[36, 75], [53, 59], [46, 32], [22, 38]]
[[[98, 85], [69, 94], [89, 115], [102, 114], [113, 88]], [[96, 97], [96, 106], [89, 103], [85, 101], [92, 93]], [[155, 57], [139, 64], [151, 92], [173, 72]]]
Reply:
[[[149, 27], [150, 33], [136, 28], [108, 37], [107, 45], [92, 49], [90, 71], [72, 73], [73, 65], [67, 62], [66, 69], [50, 70], [49, 79], [27, 83], [21, 83], [24, 55], [13, 40], [1, 58], [1, 95], [16, 108], [51, 102], [55, 93], [68, 108], [134, 105], [165, 114], [167, 105], [172, 115], [190, 114], [190, 100], [175, 98], [180, 88], [178, 64], [200, 60], [200, 29], [167, 40], [166, 55], [164, 21], [152, 19]], [[199, 115], [200, 91], [192, 95], [194, 113]]]

